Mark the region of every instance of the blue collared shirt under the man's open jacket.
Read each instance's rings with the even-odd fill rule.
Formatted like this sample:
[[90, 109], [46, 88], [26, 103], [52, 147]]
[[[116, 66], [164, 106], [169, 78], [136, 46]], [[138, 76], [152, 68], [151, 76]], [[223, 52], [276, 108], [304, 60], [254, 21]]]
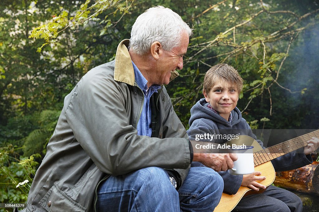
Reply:
[[152, 121], [152, 110], [150, 104], [150, 98], [154, 92], [157, 92], [158, 89], [161, 88], [160, 85], [152, 85], [149, 88], [147, 87], [147, 80], [142, 75], [140, 70], [136, 67], [133, 63], [134, 68], [134, 75], [135, 75], [135, 82], [140, 89], [142, 89], [144, 94], [144, 102], [143, 102], [143, 110], [141, 117], [137, 123], [137, 134], [138, 135], [147, 135], [151, 137], [152, 135], [152, 128], [151, 128], [151, 121]]

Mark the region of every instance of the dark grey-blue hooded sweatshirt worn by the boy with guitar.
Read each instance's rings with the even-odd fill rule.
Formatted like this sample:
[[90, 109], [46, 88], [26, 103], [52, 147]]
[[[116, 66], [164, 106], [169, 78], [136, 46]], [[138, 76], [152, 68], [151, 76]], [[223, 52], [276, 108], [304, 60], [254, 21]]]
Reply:
[[[207, 107], [206, 100], [200, 99], [190, 109], [189, 130], [187, 133], [190, 140], [195, 140], [197, 134], [238, 134], [248, 135], [254, 138], [260, 146], [263, 147], [263, 142], [257, 140], [256, 135], [252, 133], [247, 121], [241, 117], [240, 110], [235, 107], [232, 113], [232, 121], [229, 122], [221, 117], [219, 114], [214, 113], [211, 108]], [[225, 143], [227, 140], [202, 140], [214, 143]], [[265, 147], [263, 147], [265, 148]], [[282, 155], [271, 161], [275, 171], [291, 170], [305, 166], [312, 163], [310, 155], [303, 153], [303, 148], [295, 150], [289, 154]], [[192, 166], [204, 166], [199, 162], [192, 162]], [[241, 186], [243, 175], [232, 175], [227, 171], [219, 172], [224, 180], [224, 191], [236, 194]]]

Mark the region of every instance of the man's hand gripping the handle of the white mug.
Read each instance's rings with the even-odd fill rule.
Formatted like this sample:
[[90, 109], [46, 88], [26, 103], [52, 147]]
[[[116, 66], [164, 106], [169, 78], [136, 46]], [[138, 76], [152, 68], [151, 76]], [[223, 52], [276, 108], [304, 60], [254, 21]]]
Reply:
[[234, 167], [238, 159], [234, 153], [194, 153], [193, 161], [198, 161], [215, 171], [226, 171]]

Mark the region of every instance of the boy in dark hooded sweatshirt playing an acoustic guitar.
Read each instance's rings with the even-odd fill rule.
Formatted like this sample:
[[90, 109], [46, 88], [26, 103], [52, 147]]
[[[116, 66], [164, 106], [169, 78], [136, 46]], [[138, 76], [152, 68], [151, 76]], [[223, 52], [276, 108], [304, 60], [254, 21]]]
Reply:
[[[203, 84], [203, 99], [200, 99], [190, 110], [189, 130], [190, 140], [195, 140], [198, 134], [246, 134], [256, 140], [245, 119], [241, 117], [236, 107], [243, 85], [243, 79], [234, 67], [227, 64], [218, 64], [211, 67], [205, 74]], [[214, 143], [224, 143], [227, 140], [202, 140]], [[261, 140], [257, 142], [263, 147]], [[309, 155], [318, 148], [319, 139], [313, 137], [308, 146], [292, 153], [285, 154], [272, 160], [276, 171], [291, 170], [312, 163]], [[289, 164], [288, 164], [289, 163]], [[192, 166], [204, 166], [193, 162]], [[219, 174], [224, 180], [224, 191], [236, 194], [240, 186], [253, 190], [266, 187], [257, 181], [265, 179], [262, 173], [255, 171], [252, 174], [232, 175], [227, 171]], [[263, 193], [244, 197], [237, 204], [235, 211], [302, 211], [300, 198], [290, 191], [275, 186], [269, 186]]]

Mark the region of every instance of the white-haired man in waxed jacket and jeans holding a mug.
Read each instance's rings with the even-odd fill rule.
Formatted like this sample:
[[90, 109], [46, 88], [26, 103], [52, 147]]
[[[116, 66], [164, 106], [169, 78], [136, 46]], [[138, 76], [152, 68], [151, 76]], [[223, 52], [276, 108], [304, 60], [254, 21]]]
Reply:
[[[192, 30], [168, 8], [141, 14], [115, 60], [65, 97], [26, 211], [212, 211], [233, 154], [193, 153], [163, 84]], [[207, 167], [189, 168], [192, 161]], [[214, 171], [214, 170], [215, 171]]]

